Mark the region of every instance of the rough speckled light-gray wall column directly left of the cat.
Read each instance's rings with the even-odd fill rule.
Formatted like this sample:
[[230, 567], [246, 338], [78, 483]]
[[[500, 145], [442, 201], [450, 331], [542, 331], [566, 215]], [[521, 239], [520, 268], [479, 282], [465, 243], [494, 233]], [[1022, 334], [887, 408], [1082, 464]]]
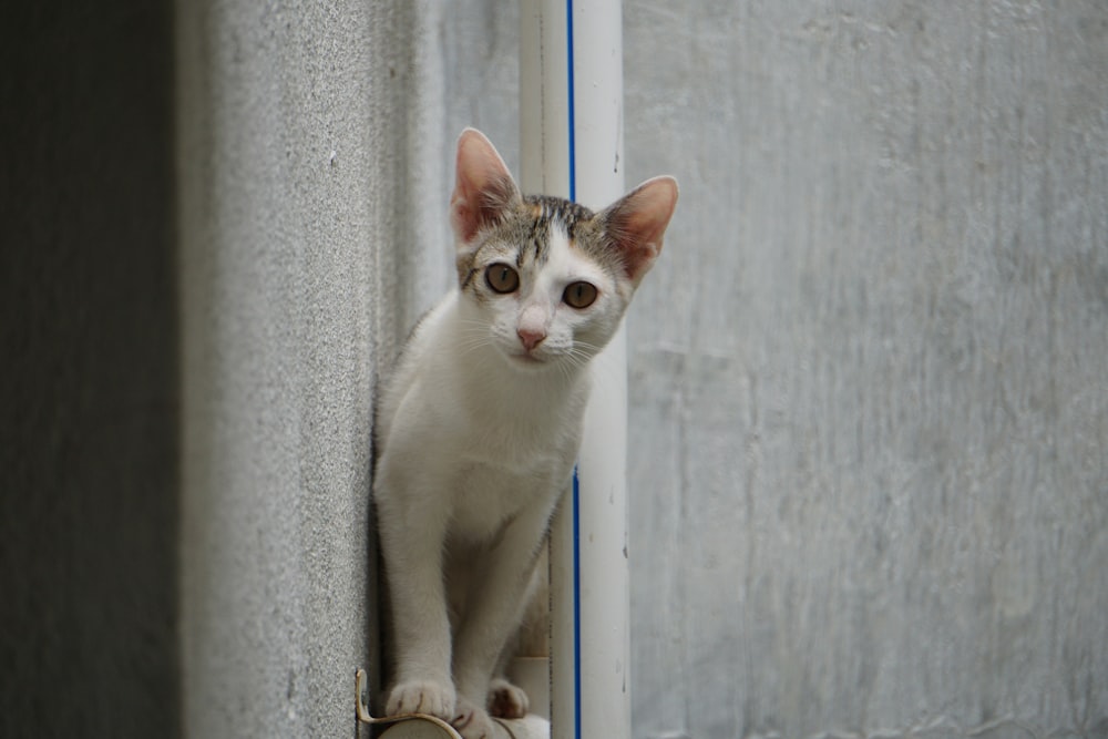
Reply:
[[403, 271], [396, 6], [178, 3], [191, 737], [356, 732], [371, 393]]

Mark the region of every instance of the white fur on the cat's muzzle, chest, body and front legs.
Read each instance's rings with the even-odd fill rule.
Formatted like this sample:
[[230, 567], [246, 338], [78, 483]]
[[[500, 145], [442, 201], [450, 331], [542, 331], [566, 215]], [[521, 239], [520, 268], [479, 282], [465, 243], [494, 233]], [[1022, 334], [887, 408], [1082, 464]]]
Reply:
[[[592, 320], [555, 302], [568, 281], [598, 278], [581, 263], [552, 255], [519, 298], [479, 304], [452, 291], [382, 397], [375, 495], [399, 657], [390, 714], [488, 720], [490, 680], [577, 454], [595, 351], [575, 348], [574, 332], [618, 325], [609, 314], [623, 308], [615, 290], [591, 306]], [[547, 338], [529, 356], [516, 329], [532, 320]]]

